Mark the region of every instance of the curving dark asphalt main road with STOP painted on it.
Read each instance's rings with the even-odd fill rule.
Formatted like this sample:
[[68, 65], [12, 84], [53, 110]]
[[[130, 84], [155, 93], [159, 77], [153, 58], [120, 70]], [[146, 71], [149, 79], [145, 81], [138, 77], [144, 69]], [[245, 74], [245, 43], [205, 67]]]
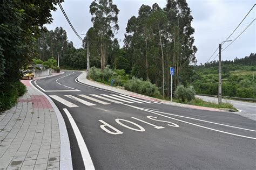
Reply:
[[86, 166], [84, 150], [80, 145], [80, 152], [77, 130], [63, 109], [82, 134], [95, 169], [256, 169], [254, 121], [228, 112], [139, 101], [79, 84], [79, 74], [65, 71], [33, 81], [64, 117], [74, 169]]

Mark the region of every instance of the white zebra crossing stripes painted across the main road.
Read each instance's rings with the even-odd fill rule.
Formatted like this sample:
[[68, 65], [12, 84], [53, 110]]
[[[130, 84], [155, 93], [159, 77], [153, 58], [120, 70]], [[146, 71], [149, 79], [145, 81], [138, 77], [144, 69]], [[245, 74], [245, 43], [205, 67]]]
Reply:
[[[152, 103], [156, 103], [156, 104], [161, 104], [159, 102], [148, 101], [148, 100], [140, 100], [138, 98], [134, 98], [134, 97], [130, 97], [130, 96], [122, 95], [122, 94], [119, 94], [119, 95], [116, 95], [116, 94], [110, 94], [110, 95], [106, 95], [106, 94], [101, 94], [101, 95], [90, 94], [90, 96], [83, 95], [83, 94], [77, 95], [77, 96], [79, 96], [81, 98], [73, 96], [73, 95], [64, 95], [64, 96], [69, 98], [69, 99], [71, 99], [71, 100], [73, 100], [73, 101], [76, 101], [76, 102], [82, 103], [84, 105], [87, 105], [89, 107], [97, 105], [96, 103], [100, 103], [100, 104], [104, 104], [104, 105], [111, 104], [111, 103], [116, 103], [116, 104], [123, 104], [123, 103], [139, 103], [139, 104], [144, 104], [144, 103], [152, 104]], [[78, 105], [73, 104], [72, 102], [70, 102], [68, 100], [65, 100], [64, 98], [59, 97], [57, 95], [50, 95], [50, 97], [53, 98], [54, 100], [64, 104], [64, 105], [66, 105], [69, 108], [79, 107]], [[90, 102], [87, 101], [87, 100], [89, 100]], [[107, 102], [105, 102], [105, 101], [107, 101]], [[111, 102], [111, 103], [108, 103], [108, 102]]]

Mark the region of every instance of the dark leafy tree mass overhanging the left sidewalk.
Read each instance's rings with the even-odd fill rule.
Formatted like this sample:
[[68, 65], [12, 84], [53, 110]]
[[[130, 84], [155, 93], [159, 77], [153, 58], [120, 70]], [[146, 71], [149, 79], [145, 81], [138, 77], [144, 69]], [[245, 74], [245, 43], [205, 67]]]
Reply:
[[2, 0], [0, 3], [0, 110], [8, 109], [24, 93], [20, 68], [33, 57], [35, 39], [52, 21], [53, 1]]

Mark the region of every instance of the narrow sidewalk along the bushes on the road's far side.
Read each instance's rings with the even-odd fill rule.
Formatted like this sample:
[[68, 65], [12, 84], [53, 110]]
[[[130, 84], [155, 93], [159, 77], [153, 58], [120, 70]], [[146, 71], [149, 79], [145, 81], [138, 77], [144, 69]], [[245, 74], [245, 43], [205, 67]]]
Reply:
[[196, 106], [196, 105], [181, 104], [181, 103], [176, 103], [176, 102], [160, 100], [158, 98], [154, 98], [154, 97], [149, 97], [149, 96], [133, 93], [133, 92], [127, 91], [125, 89], [120, 89], [120, 88], [116, 88], [116, 87], [107, 86], [106, 84], [86, 79], [86, 72], [83, 72], [83, 74], [81, 74], [78, 77], [77, 80], [78, 80], [78, 82], [87, 84], [88, 86], [92, 86], [92, 87], [96, 87], [96, 88], [100, 88], [100, 89], [105, 89], [105, 90], [113, 91], [113, 92], [116, 92], [116, 93], [121, 93], [121, 94], [124, 94], [124, 95], [127, 95], [127, 96], [131, 96], [131, 97], [142, 98], [144, 100], [150, 100], [150, 101], [161, 102], [161, 103], [164, 103], [164, 104], [170, 104], [170, 105], [174, 105], [176, 107], [185, 107], [185, 108], [190, 108], [190, 109], [201, 109], [201, 110], [225, 112], [224, 110], [220, 110], [220, 109], [207, 108], [207, 107], [199, 107], [199, 106]]

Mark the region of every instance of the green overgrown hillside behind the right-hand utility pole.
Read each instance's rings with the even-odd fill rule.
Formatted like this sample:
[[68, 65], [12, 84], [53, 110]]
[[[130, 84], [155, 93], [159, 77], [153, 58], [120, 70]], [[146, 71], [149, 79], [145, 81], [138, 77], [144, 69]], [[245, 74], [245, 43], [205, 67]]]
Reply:
[[[218, 95], [218, 61], [196, 66], [192, 85], [198, 94]], [[256, 54], [222, 61], [223, 96], [256, 98]]]

